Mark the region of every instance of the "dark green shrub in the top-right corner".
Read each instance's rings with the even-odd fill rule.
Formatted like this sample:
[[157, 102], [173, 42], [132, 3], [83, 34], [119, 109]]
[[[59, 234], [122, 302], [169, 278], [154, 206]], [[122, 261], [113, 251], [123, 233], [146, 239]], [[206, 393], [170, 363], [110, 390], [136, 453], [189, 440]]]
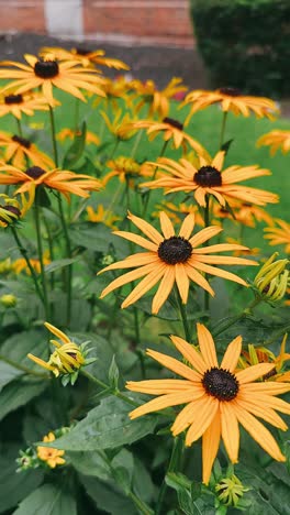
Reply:
[[212, 87], [290, 96], [289, 0], [191, 0]]

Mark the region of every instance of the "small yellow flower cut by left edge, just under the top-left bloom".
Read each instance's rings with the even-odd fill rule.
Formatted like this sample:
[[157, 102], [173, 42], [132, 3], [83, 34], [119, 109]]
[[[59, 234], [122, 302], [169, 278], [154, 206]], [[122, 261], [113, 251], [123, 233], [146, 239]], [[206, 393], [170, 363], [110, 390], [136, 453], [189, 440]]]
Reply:
[[[55, 105], [59, 102], [55, 101]], [[32, 117], [34, 111], [47, 111], [49, 109], [46, 98], [37, 94], [2, 95], [0, 99], [0, 117], [12, 114], [21, 120], [22, 114]]]

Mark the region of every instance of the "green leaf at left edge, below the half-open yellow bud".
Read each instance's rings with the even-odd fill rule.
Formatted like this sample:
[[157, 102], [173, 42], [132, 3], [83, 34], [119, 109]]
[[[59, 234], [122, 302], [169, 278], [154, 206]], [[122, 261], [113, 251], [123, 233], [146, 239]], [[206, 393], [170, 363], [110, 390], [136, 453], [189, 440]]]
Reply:
[[22, 377], [3, 387], [0, 394], [0, 420], [10, 412], [27, 404], [47, 386], [47, 381]]

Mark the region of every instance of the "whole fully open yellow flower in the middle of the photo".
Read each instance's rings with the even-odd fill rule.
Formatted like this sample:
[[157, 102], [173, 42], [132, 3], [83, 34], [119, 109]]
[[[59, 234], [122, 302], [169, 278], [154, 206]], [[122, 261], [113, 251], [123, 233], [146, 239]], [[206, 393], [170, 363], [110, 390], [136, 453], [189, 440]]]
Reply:
[[255, 261], [245, 260], [243, 258], [211, 255], [213, 252], [246, 249], [242, 245], [221, 243], [199, 249], [202, 243], [219, 234], [222, 229], [211, 226], [191, 237], [194, 228], [193, 215], [188, 215], [185, 218], [178, 235], [175, 233], [169, 217], [164, 211], [160, 212], [161, 233], [142, 218], [131, 213], [127, 218], [147, 237], [147, 239], [126, 231], [115, 231], [114, 233], [143, 246], [147, 252], [130, 255], [125, 260], [118, 261], [99, 272], [102, 273], [118, 269], [135, 269], [121, 275], [121, 277], [114, 280], [107, 286], [101, 293], [101, 298], [124, 284], [144, 277], [125, 298], [122, 308], [136, 303], [157, 283], [160, 283], [152, 304], [152, 313], [157, 314], [168, 298], [175, 283], [177, 284], [182, 303], [186, 304], [190, 281], [201, 286], [211, 295], [214, 295], [213, 289], [202, 273], [209, 273], [246, 285], [245, 281], [237, 275], [212, 265], [256, 265]]

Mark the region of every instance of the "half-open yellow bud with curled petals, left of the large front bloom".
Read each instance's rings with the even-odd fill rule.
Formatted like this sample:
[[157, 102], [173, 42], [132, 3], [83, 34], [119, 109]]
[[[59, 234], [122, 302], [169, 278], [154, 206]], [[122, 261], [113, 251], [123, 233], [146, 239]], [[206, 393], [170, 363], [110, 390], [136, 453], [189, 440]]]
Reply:
[[62, 376], [64, 385], [68, 384], [68, 382], [75, 384], [80, 369], [94, 361], [93, 358], [86, 358], [89, 352], [89, 349], [86, 350], [88, 341], [78, 346], [71, 341], [67, 335], [60, 331], [60, 329], [57, 329], [57, 327], [48, 322], [44, 325], [62, 343], [56, 340], [51, 340], [51, 343], [56, 347], [56, 350], [51, 354], [47, 362], [33, 354], [27, 354], [27, 358], [43, 369], [53, 372], [56, 377]]

